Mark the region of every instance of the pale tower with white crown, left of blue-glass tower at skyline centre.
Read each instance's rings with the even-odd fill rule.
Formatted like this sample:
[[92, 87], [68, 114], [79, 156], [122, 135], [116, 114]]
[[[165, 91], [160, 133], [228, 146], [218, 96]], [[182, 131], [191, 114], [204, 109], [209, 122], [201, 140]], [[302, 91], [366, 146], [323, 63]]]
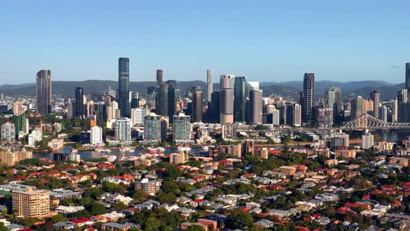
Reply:
[[233, 122], [233, 75], [220, 76], [220, 124]]

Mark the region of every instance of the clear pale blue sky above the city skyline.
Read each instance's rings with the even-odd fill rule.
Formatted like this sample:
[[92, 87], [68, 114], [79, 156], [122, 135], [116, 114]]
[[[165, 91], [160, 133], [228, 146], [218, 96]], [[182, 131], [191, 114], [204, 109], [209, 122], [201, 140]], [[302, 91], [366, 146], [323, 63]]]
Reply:
[[131, 81], [385, 80], [404, 82], [410, 62], [410, 1], [2, 1], [1, 83], [117, 80], [129, 57]]

